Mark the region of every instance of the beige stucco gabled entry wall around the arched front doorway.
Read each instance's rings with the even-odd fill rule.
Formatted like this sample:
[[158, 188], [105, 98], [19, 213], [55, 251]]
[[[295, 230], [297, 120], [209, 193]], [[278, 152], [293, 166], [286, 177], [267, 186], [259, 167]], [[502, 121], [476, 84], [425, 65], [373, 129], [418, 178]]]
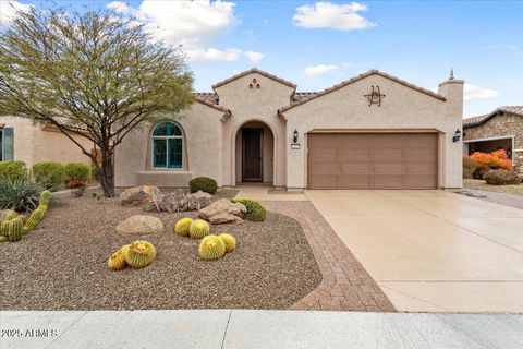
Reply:
[[[250, 88], [253, 79], [259, 88]], [[294, 87], [281, 84], [258, 73], [251, 73], [227, 85], [215, 88], [220, 105], [232, 111], [223, 123], [222, 131], [222, 180], [223, 185], [235, 185], [241, 180], [236, 176], [235, 140], [242, 125], [250, 121], [262, 121], [272, 132], [276, 158], [273, 159], [275, 186], [285, 186], [285, 123], [278, 117], [277, 110], [290, 103]]]

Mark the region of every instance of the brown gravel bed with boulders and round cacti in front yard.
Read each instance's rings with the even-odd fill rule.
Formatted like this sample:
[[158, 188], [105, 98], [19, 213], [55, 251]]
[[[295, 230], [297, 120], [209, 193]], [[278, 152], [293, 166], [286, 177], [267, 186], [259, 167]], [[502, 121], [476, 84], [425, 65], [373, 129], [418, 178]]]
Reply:
[[[163, 221], [162, 233], [118, 234], [117, 225], [136, 214], [145, 213], [117, 198], [60, 198], [37, 230], [0, 244], [0, 309], [287, 309], [321, 281], [300, 225], [287, 216], [268, 213], [265, 222], [214, 226], [212, 233], [234, 234], [238, 249], [204, 262], [199, 241], [172, 232], [178, 219], [194, 212], [147, 213]], [[141, 239], [156, 246], [155, 263], [108, 269], [111, 253]]]

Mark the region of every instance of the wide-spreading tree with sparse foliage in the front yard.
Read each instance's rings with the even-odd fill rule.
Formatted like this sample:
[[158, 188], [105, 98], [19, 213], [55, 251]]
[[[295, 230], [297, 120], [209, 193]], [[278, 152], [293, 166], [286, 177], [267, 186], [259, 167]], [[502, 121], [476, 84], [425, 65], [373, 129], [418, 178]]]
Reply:
[[[114, 196], [122, 140], [193, 101], [181, 48], [155, 41], [115, 12], [33, 8], [19, 11], [0, 35], [0, 116], [58, 128], [96, 165], [106, 196]], [[77, 136], [99, 148], [101, 163]]]

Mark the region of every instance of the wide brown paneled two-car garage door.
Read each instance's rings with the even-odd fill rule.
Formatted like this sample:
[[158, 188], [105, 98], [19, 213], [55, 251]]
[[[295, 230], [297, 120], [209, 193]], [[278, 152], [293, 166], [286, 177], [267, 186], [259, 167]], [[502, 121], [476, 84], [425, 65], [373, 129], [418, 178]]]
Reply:
[[309, 189], [436, 189], [436, 133], [311, 133]]

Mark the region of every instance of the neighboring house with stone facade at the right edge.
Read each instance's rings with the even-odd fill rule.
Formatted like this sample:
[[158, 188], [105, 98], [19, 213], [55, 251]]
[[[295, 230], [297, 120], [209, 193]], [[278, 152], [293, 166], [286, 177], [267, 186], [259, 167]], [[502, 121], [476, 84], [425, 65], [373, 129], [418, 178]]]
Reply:
[[507, 151], [514, 168], [523, 166], [523, 106], [499, 107], [463, 120], [463, 153]]

